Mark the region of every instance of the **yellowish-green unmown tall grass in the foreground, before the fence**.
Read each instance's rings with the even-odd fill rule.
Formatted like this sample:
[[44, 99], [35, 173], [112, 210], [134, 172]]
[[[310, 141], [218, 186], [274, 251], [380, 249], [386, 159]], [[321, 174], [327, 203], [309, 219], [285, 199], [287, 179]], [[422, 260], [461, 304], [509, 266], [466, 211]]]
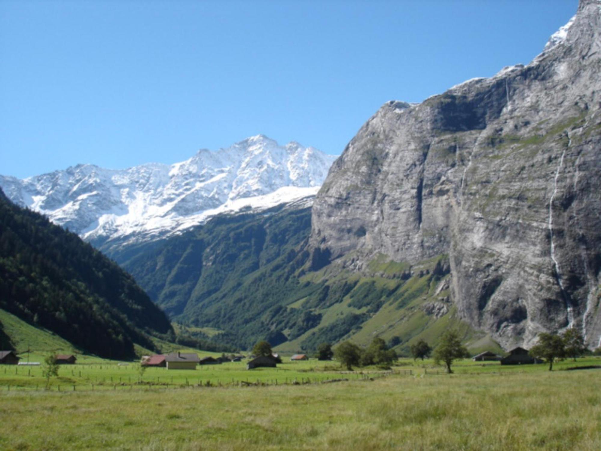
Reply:
[[0, 395], [0, 449], [598, 450], [599, 370]]

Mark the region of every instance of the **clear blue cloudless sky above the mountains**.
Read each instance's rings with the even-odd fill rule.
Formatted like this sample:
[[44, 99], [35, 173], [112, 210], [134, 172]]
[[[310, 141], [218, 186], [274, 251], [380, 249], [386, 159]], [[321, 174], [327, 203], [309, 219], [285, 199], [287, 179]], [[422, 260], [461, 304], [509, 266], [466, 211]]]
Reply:
[[0, 174], [340, 154], [388, 100], [528, 63], [577, 0], [0, 1]]

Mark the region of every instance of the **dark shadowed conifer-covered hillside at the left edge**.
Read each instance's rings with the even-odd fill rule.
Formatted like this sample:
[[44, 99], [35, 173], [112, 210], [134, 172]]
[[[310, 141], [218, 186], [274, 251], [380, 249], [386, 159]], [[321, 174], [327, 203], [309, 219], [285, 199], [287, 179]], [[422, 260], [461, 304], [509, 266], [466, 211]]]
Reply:
[[0, 191], [0, 308], [85, 351], [133, 357], [172, 331], [133, 278], [74, 233]]

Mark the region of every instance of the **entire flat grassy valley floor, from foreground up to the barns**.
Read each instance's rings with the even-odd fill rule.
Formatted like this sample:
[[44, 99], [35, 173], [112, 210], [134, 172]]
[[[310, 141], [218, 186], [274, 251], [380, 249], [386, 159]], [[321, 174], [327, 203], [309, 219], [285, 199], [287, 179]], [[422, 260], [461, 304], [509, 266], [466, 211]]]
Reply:
[[49, 390], [41, 367], [0, 367], [0, 449], [601, 449], [601, 371], [566, 370], [596, 357], [553, 372], [462, 360], [453, 375], [409, 359], [392, 373], [311, 359], [142, 376], [136, 363], [78, 362]]

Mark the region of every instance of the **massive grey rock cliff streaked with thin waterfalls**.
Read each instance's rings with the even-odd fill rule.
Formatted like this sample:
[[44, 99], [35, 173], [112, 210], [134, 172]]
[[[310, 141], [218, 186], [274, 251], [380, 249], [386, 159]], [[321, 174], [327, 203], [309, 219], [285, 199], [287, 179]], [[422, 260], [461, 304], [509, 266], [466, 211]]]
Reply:
[[314, 256], [448, 256], [460, 317], [505, 347], [567, 327], [599, 346], [600, 29], [582, 0], [527, 66], [383, 105], [316, 198]]

